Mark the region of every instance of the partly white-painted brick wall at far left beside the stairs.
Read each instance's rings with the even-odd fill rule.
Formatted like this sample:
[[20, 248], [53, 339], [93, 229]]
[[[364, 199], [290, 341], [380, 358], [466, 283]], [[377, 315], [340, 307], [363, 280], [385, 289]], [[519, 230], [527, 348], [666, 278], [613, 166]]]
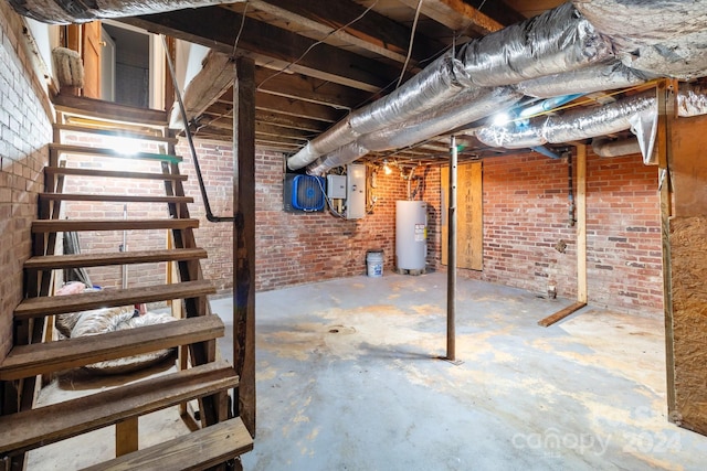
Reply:
[[22, 300], [36, 194], [43, 190], [51, 121], [46, 95], [21, 36], [24, 23], [0, 3], [0, 360], [12, 346], [12, 312]]

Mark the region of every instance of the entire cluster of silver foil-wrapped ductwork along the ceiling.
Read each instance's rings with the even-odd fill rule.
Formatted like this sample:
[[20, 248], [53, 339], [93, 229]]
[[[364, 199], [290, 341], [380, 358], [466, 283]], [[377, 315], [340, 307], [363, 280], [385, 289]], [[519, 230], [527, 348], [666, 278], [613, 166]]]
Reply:
[[[524, 113], [519, 104], [528, 98], [560, 97], [561, 103], [562, 97], [658, 77], [705, 76], [707, 0], [675, 3], [574, 0], [471, 41], [390, 95], [349, 114], [287, 165], [323, 174], [371, 151], [412, 146], [500, 110]], [[707, 114], [701, 88], [682, 87], [678, 98], [680, 116]], [[632, 127], [632, 117], [653, 111], [657, 114], [657, 105], [650, 92], [559, 117], [482, 126], [475, 135], [493, 147], [532, 148], [623, 131]]]

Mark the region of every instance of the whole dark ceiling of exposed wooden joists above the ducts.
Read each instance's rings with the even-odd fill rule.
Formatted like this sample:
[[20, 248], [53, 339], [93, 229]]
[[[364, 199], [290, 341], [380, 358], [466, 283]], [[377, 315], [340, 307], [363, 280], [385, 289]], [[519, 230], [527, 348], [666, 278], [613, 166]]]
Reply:
[[[546, 6], [548, 1], [552, 4]], [[544, 8], [561, 2], [547, 0]], [[524, 9], [532, 8], [532, 3], [250, 0], [120, 21], [221, 54], [210, 71], [209, 64], [204, 65], [207, 72], [199, 78], [202, 84], [192, 88], [196, 96], [186, 93], [186, 101], [191, 104], [191, 128], [202, 138], [232, 139], [229, 61], [236, 56], [253, 58], [257, 142], [264, 149], [295, 153], [307, 139], [349, 111], [394, 89], [409, 52], [403, 81], [453, 44], [458, 47], [469, 39], [523, 20]], [[413, 46], [409, 51], [411, 38]], [[442, 141], [420, 143], [399, 149], [395, 156], [423, 159], [442, 154], [446, 148]]]

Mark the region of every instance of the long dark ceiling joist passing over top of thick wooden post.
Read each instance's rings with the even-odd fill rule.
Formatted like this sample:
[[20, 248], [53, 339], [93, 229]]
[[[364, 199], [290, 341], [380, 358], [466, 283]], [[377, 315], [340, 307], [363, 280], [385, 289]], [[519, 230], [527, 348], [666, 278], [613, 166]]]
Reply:
[[[398, 67], [328, 44], [315, 45], [314, 40], [281, 28], [250, 18], [242, 20], [241, 14], [229, 9], [204, 7], [125, 18], [120, 21], [225, 54], [233, 55], [234, 52], [244, 51], [256, 63], [272, 63], [274, 67], [292, 64], [292, 72], [368, 92], [387, 87], [400, 73]], [[239, 31], [238, 51], [234, 51], [233, 44]], [[314, 53], [304, 54], [310, 47], [314, 47]]]

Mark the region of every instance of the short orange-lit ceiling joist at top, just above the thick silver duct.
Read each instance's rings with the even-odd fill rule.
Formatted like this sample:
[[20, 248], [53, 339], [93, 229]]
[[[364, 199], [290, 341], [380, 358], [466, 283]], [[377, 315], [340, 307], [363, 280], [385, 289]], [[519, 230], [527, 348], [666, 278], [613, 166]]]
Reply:
[[[400, 0], [412, 9], [419, 0]], [[485, 35], [504, 28], [498, 21], [482, 13], [463, 0], [426, 0], [422, 2], [422, 14], [442, 23], [456, 32], [469, 32], [471, 35]]]

